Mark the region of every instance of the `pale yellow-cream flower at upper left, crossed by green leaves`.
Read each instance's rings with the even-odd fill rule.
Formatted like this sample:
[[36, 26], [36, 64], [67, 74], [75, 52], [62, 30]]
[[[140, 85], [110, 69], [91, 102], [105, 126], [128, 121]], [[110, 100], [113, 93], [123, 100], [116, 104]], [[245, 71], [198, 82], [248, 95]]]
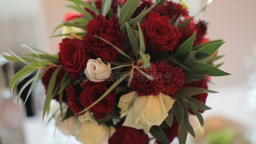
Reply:
[[72, 26], [64, 26], [62, 29], [62, 34], [70, 34], [68, 36], [63, 36], [63, 38], [77, 38], [83, 40], [82, 35], [76, 35], [76, 33], [85, 33], [83, 28], [77, 28]]

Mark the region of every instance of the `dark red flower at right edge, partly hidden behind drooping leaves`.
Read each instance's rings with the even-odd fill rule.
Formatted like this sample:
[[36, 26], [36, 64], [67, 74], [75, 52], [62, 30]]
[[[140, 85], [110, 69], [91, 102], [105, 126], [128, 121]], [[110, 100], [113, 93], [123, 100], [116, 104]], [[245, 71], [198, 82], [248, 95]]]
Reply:
[[[185, 84], [184, 86], [186, 87], [197, 87], [197, 88], [203, 88], [203, 89], [208, 89], [208, 86], [207, 86], [207, 81], [202, 79], [202, 80], [199, 80], [199, 81], [194, 81], [194, 82], [190, 82], [188, 84]], [[193, 97], [196, 98], [197, 100], [200, 100], [201, 102], [205, 103], [206, 102], [206, 98], [208, 96], [208, 93], [200, 93], [200, 94], [197, 94], [197, 95], [194, 95]], [[203, 113], [204, 110], [198, 110], [200, 113]], [[193, 114], [194, 115], [194, 112], [191, 110], [191, 109], [188, 109], [188, 112], [190, 114]]]

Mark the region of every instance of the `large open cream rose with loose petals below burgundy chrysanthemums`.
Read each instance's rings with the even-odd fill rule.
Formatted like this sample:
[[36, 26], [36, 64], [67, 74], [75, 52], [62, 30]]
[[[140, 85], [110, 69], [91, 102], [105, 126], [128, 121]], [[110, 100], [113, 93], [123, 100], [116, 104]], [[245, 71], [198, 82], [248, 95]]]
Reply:
[[127, 115], [123, 125], [149, 132], [151, 126], [162, 124], [174, 101], [164, 93], [139, 97], [137, 92], [127, 93], [118, 103], [121, 117]]

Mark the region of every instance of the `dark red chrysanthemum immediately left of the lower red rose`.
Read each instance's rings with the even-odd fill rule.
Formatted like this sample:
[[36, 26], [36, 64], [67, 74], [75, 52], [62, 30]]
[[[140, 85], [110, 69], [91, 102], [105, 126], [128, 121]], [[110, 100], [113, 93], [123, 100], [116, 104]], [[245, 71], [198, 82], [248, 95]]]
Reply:
[[71, 111], [76, 114], [84, 110], [83, 105], [81, 105], [79, 102], [80, 93], [77, 92], [76, 88], [72, 84], [68, 84], [65, 91], [67, 95], [68, 107], [71, 109]]

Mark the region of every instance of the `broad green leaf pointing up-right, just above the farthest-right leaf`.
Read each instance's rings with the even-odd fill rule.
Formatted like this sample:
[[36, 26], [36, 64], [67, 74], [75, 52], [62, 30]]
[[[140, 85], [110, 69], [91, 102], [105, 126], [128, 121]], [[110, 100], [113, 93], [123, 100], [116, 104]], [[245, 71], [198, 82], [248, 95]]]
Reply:
[[197, 60], [204, 60], [208, 57], [210, 57], [214, 52], [216, 52], [222, 44], [225, 42], [210, 44], [202, 47], [196, 52], [195, 58]]

